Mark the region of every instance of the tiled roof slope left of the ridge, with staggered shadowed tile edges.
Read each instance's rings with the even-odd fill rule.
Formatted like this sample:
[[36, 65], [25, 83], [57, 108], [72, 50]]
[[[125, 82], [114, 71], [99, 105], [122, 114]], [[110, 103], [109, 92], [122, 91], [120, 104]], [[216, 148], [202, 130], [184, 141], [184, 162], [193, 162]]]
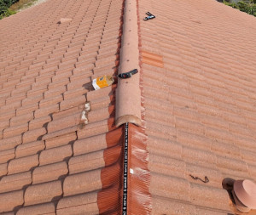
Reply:
[[[118, 133], [110, 132], [115, 88], [93, 91], [90, 82], [117, 70], [122, 8], [119, 0], [49, 0], [0, 21], [1, 214], [101, 210], [108, 137]], [[111, 152], [118, 160], [119, 147]]]

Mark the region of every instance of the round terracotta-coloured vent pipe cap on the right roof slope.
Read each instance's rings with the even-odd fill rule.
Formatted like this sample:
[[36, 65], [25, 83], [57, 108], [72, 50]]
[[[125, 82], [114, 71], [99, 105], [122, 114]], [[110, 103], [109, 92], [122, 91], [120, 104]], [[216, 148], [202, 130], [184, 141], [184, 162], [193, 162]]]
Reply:
[[236, 208], [241, 212], [256, 209], [256, 184], [250, 180], [236, 180], [233, 190]]

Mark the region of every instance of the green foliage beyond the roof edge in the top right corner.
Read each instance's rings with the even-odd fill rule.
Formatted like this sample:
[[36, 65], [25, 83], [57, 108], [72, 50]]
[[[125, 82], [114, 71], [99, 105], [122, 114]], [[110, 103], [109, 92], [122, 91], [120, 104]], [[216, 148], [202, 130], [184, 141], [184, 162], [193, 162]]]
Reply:
[[224, 1], [224, 4], [232, 8], [237, 8], [247, 14], [256, 16], [256, 0], [251, 0], [250, 3], [247, 3], [247, 2], [240, 1], [238, 3], [228, 3]]

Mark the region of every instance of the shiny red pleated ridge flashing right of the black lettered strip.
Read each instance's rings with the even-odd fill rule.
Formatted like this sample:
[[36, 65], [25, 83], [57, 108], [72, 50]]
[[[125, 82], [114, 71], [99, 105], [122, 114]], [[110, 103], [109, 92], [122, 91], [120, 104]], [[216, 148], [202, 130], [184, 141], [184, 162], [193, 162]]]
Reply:
[[148, 170], [147, 136], [142, 127], [129, 123], [128, 160], [128, 213], [148, 215], [152, 209], [149, 193], [150, 172]]

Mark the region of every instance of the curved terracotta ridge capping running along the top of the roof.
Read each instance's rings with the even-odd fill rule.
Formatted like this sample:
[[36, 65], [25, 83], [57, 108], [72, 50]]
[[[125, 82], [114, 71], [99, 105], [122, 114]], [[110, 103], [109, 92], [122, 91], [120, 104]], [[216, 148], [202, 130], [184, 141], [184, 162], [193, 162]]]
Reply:
[[125, 1], [123, 17], [123, 35], [120, 49], [119, 74], [138, 70], [138, 73], [127, 79], [119, 78], [116, 92], [116, 126], [131, 122], [138, 126], [141, 120], [141, 90], [139, 50], [138, 50], [138, 25], [137, 25], [137, 1]]

